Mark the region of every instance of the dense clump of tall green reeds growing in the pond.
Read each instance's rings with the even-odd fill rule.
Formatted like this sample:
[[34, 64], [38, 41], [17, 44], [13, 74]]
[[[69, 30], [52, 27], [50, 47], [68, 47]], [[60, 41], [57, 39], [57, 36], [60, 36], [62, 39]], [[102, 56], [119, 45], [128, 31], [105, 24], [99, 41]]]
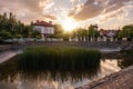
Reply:
[[24, 70], [82, 71], [99, 66], [101, 53], [73, 47], [29, 47], [20, 56], [19, 68]]

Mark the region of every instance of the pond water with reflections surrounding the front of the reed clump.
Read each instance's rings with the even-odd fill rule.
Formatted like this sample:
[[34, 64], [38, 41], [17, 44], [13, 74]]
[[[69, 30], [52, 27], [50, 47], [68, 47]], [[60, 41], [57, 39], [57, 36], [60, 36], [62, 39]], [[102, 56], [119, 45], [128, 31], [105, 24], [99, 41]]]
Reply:
[[132, 57], [109, 53], [96, 68], [89, 71], [50, 72], [20, 70], [14, 60], [16, 58], [0, 65], [0, 89], [74, 89], [133, 65]]

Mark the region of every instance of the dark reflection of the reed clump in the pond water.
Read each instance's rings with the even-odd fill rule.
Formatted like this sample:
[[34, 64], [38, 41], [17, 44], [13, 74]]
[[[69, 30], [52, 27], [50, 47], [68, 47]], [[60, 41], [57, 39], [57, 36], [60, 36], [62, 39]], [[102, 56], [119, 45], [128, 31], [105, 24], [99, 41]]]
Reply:
[[[20, 62], [18, 63], [18, 57], [14, 57], [13, 59], [8, 60], [7, 62], [3, 62], [0, 65], [0, 80], [8, 80], [10, 77], [11, 81], [13, 81], [18, 76], [21, 77], [21, 79], [43, 79], [43, 80], [82, 80], [83, 78], [93, 78], [98, 75], [100, 71], [100, 60], [94, 62], [90, 62], [90, 66], [83, 70], [81, 69], [74, 69], [74, 70], [66, 70], [66, 71], [60, 71], [60, 70], [45, 70], [42, 68], [42, 66], [38, 66], [37, 63], [32, 63], [33, 67], [29, 67], [31, 63], [23, 63], [20, 66]], [[93, 66], [92, 66], [93, 63]], [[80, 66], [80, 63], [79, 63]], [[40, 68], [41, 67], [41, 68]]]

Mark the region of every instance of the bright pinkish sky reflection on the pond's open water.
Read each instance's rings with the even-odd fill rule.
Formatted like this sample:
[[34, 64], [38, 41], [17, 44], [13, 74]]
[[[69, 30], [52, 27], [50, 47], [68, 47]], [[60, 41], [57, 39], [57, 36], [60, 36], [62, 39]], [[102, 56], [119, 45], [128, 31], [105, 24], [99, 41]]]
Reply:
[[82, 78], [82, 80], [78, 81], [71, 81], [66, 80], [64, 82], [62, 81], [55, 81], [55, 80], [44, 80], [44, 79], [23, 79], [18, 75], [13, 80], [9, 77], [7, 80], [2, 80], [0, 82], [1, 89], [74, 89], [74, 87], [83, 86], [89, 83], [90, 81], [94, 79], [102, 78], [106, 75], [110, 75], [112, 72], [121, 70], [120, 67], [117, 67], [117, 60], [102, 60], [101, 61], [101, 72], [98, 73], [98, 77], [94, 77], [92, 79], [90, 78]]

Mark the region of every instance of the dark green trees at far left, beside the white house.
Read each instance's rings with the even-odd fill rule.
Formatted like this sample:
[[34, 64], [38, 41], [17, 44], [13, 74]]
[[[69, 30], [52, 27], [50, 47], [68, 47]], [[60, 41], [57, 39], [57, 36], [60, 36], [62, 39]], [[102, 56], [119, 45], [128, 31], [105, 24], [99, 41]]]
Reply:
[[32, 24], [24, 24], [20, 20], [17, 20], [12, 12], [9, 13], [9, 17], [6, 12], [0, 14], [0, 40], [40, 37], [41, 33], [34, 31]]

